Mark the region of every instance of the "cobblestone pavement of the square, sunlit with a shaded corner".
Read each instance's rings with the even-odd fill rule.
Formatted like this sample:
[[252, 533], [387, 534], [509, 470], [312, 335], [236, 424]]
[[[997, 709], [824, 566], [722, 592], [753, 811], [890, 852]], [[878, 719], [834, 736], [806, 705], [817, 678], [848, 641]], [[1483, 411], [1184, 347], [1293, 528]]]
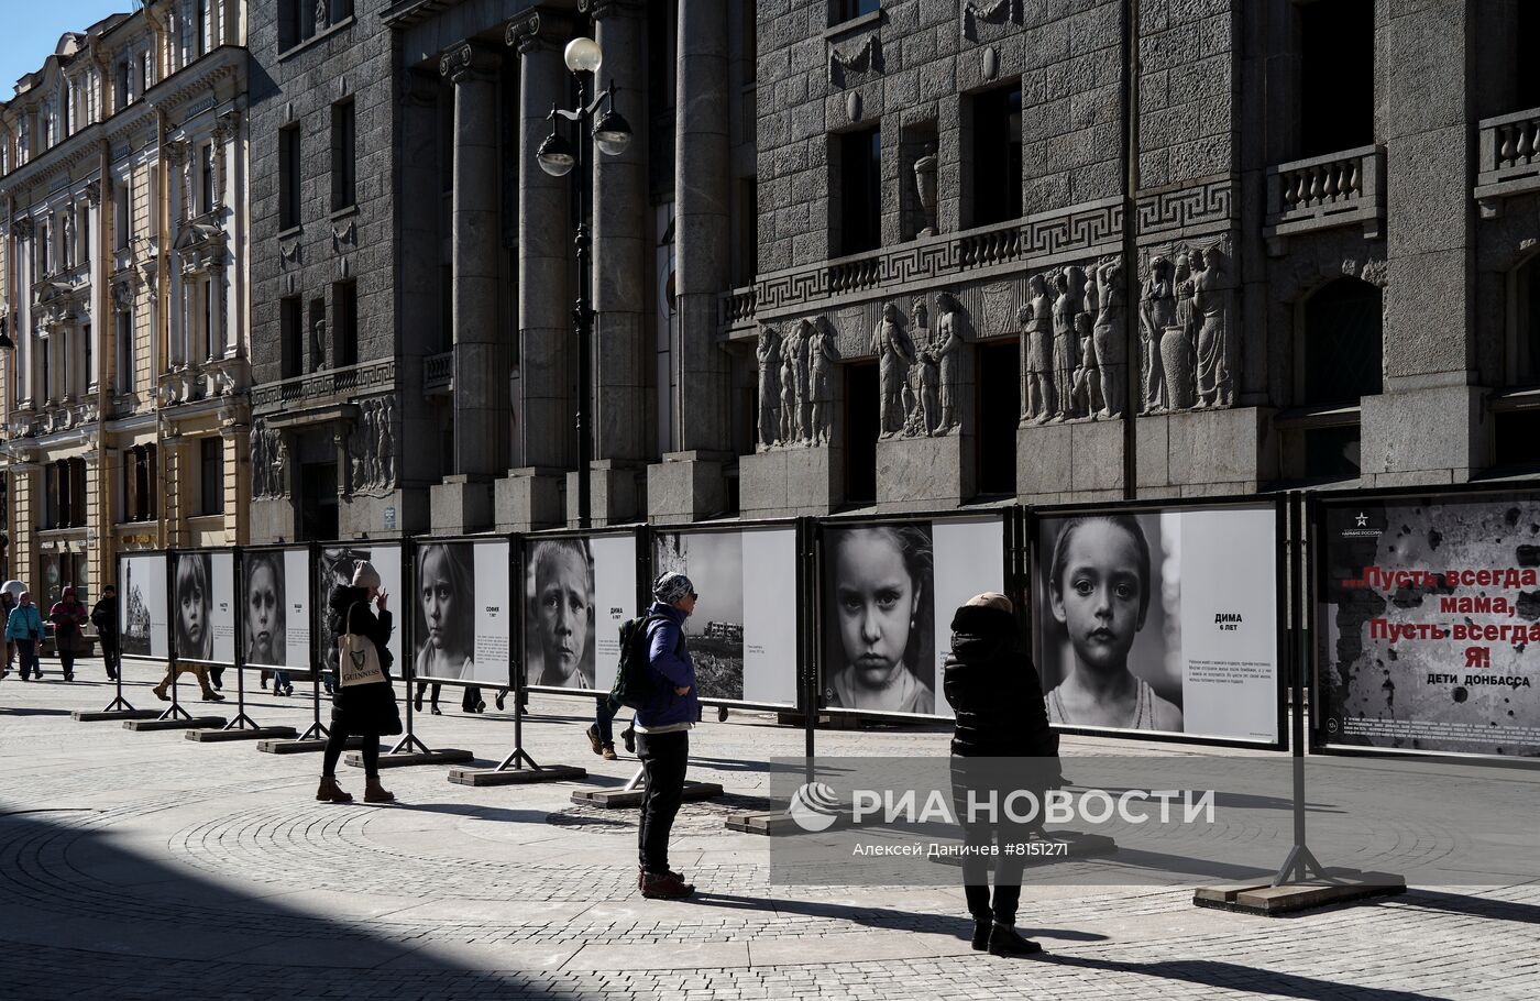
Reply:
[[[722, 827], [765, 796], [768, 758], [801, 753], [801, 732], [767, 716], [691, 738], [691, 776], [730, 796], [687, 804], [676, 829], [675, 865], [702, 896], [658, 902], [636, 893], [634, 812], [574, 807], [573, 784], [471, 788], [417, 767], [385, 773], [399, 805], [323, 805], [316, 755], [74, 722], [111, 688], [48, 667], [43, 682], [0, 681], [0, 996], [1540, 996], [1535, 884], [1287, 919], [1198, 910], [1190, 889], [1027, 887], [1021, 924], [1049, 953], [992, 959], [962, 938], [958, 889], [770, 886], [767, 841]], [[151, 665], [129, 679], [136, 705], [160, 705]], [[419, 733], [499, 759], [511, 716], [464, 716], [445, 696]], [[249, 702], [262, 724], [303, 727], [311, 711], [265, 691]], [[619, 784], [634, 762], [588, 752], [587, 707], [536, 698], [525, 742]], [[941, 730], [819, 741], [829, 755], [946, 753]], [[1066, 755], [1107, 747], [1066, 741]]]

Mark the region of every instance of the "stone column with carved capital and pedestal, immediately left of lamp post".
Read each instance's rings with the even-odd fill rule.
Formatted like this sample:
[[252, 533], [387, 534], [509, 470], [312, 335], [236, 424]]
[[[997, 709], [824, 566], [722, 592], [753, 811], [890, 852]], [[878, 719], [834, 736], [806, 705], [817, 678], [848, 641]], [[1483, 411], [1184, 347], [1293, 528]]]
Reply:
[[571, 179], [551, 177], [534, 159], [551, 131], [551, 108], [570, 103], [562, 63], [562, 43], [570, 34], [570, 22], [544, 9], [510, 22], [507, 29], [508, 45], [519, 52], [519, 368], [514, 470], [497, 487], [499, 530], [564, 522], [562, 480], [578, 454], [568, 288]]

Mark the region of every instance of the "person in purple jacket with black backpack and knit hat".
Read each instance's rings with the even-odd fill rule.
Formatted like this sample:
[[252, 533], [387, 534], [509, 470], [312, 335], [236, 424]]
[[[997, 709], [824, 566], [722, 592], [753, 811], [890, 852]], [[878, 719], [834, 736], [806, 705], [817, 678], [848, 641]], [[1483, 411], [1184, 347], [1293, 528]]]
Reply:
[[636, 710], [636, 756], [642, 761], [647, 792], [638, 835], [642, 896], [681, 899], [695, 893], [684, 876], [668, 869], [668, 832], [684, 799], [684, 772], [690, 758], [690, 727], [701, 718], [695, 701], [695, 664], [684, 642], [684, 621], [695, 611], [695, 585], [682, 573], [664, 573], [653, 582], [647, 622], [647, 665], [656, 671], [651, 701]]

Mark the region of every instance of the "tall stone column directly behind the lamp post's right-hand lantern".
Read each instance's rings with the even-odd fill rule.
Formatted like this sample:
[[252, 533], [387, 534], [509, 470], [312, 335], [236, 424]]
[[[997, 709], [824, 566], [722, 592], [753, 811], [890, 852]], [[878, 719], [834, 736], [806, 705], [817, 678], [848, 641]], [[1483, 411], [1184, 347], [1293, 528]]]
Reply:
[[642, 513], [636, 468], [647, 457], [647, 11], [638, 0], [596, 0], [591, 9], [604, 49], [594, 89], [614, 83], [614, 109], [638, 131], [621, 156], [593, 157], [593, 521], [604, 525]]

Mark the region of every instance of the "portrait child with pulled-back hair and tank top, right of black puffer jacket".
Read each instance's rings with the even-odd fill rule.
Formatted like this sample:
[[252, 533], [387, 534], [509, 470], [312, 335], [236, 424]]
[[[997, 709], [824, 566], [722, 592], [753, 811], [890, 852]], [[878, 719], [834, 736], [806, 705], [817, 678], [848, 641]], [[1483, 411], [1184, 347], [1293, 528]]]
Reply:
[[[1129, 653], [1150, 616], [1155, 591], [1150, 544], [1138, 519], [1095, 514], [1058, 527], [1047, 605], [1064, 631], [1072, 662], [1056, 664], [1058, 651], [1044, 650], [1044, 673], [1060, 679], [1044, 696], [1049, 722], [1183, 732], [1181, 710], [1129, 668]], [[1153, 642], [1163, 645], [1158, 636]]]

